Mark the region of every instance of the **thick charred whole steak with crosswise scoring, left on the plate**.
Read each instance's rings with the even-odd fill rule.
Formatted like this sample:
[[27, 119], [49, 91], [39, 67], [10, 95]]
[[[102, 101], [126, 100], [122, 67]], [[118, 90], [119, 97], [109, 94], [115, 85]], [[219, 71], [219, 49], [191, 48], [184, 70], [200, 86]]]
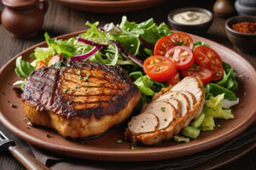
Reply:
[[138, 104], [137, 86], [119, 66], [73, 61], [33, 71], [21, 100], [26, 117], [64, 137], [84, 138], [124, 122]]

